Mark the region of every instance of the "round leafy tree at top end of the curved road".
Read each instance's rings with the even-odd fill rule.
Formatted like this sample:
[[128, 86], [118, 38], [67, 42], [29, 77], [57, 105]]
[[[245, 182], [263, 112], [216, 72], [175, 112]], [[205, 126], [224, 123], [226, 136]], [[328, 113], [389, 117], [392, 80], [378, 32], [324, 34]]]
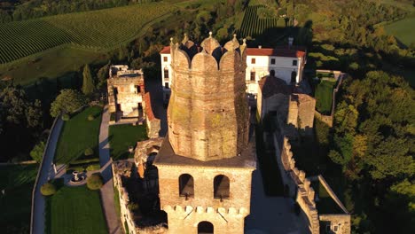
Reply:
[[87, 105], [87, 101], [80, 92], [61, 90], [58, 97], [51, 104], [51, 116], [58, 117], [62, 113], [74, 113], [83, 105]]

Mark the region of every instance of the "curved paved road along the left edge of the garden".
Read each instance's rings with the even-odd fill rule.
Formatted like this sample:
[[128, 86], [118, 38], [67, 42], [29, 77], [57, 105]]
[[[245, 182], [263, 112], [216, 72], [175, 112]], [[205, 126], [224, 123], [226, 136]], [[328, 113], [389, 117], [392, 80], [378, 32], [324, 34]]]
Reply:
[[43, 234], [44, 232], [44, 207], [45, 201], [40, 188], [43, 183], [48, 182], [50, 178], [54, 177], [54, 170], [52, 168], [53, 156], [55, 155], [56, 144], [58, 144], [60, 130], [62, 129], [63, 121], [59, 118], [56, 121], [55, 126], [51, 129], [51, 136], [49, 138], [49, 143], [47, 144], [46, 152], [43, 155], [43, 164], [40, 168], [40, 175], [35, 184], [35, 200], [32, 201], [35, 204], [33, 211], [33, 234]]

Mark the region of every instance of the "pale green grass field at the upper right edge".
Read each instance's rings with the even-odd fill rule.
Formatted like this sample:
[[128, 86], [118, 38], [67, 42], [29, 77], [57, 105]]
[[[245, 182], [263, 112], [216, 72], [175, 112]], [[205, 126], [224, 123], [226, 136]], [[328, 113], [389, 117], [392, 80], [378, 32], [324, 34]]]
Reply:
[[397, 20], [385, 26], [389, 35], [394, 35], [401, 43], [410, 46], [415, 44], [415, 30], [410, 29], [415, 26], [415, 14], [405, 17], [403, 20]]

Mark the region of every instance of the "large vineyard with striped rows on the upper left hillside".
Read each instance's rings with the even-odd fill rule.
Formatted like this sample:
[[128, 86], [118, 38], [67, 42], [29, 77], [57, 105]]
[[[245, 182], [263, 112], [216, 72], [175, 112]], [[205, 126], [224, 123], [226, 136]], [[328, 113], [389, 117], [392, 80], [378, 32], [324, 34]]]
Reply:
[[77, 12], [0, 25], [0, 64], [69, 44], [105, 51], [133, 40], [142, 27], [171, 12], [163, 3]]

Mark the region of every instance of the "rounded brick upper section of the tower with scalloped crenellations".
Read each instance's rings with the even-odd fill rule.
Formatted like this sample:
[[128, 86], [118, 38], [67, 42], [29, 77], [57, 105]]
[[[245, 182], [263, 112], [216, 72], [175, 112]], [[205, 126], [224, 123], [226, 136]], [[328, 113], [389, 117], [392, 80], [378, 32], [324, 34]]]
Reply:
[[234, 38], [220, 47], [211, 35], [199, 48], [186, 40], [170, 44], [169, 142], [196, 160], [235, 157], [248, 140], [245, 45]]

